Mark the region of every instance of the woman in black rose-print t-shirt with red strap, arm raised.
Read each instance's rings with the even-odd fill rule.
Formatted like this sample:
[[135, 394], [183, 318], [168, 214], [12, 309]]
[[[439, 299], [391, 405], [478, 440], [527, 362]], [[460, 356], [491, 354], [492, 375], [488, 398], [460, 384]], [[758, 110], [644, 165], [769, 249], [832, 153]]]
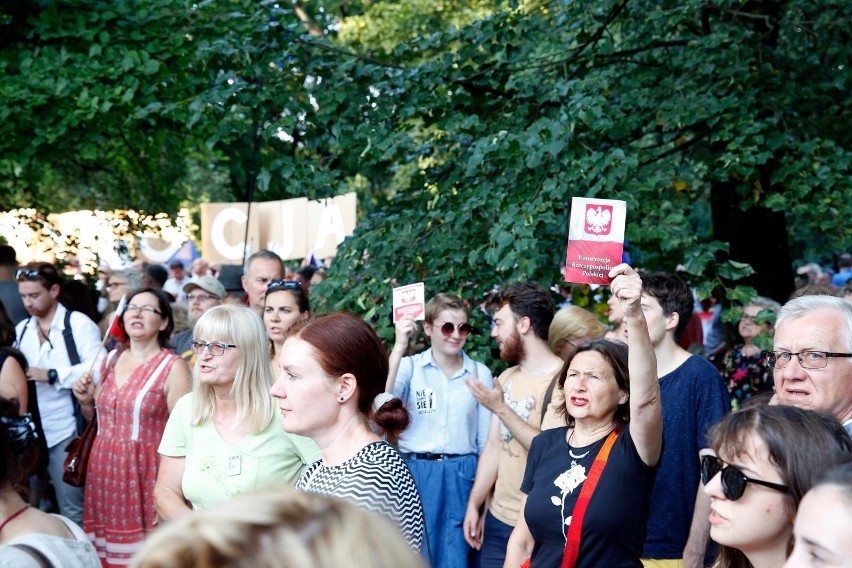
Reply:
[[558, 387], [565, 395], [567, 426], [533, 439], [507, 567], [517, 568], [527, 558], [533, 568], [560, 566], [563, 555], [575, 558], [569, 565], [577, 568], [642, 566], [663, 442], [650, 334], [665, 333], [666, 319], [653, 310], [645, 313], [642, 280], [632, 268], [616, 266], [610, 277], [612, 295], [624, 311], [629, 353], [620, 341], [600, 339], [581, 346], [563, 365]]

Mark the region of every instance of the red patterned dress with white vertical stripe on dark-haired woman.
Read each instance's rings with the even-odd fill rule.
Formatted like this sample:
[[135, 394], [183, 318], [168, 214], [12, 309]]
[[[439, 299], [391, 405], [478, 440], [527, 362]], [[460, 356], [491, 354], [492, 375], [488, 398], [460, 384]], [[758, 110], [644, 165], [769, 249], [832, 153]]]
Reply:
[[83, 529], [103, 566], [127, 566], [155, 528], [154, 483], [157, 446], [169, 417], [163, 392], [178, 356], [169, 349], [140, 365], [121, 388], [112, 354], [101, 372], [98, 435], [89, 457]]

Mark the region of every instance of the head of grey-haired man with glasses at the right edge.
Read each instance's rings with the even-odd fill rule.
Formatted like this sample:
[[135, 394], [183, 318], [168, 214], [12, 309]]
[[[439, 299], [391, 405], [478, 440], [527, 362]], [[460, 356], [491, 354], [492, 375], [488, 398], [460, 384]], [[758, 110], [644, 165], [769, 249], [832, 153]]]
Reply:
[[775, 402], [820, 410], [852, 434], [852, 302], [802, 296], [778, 313], [767, 363]]

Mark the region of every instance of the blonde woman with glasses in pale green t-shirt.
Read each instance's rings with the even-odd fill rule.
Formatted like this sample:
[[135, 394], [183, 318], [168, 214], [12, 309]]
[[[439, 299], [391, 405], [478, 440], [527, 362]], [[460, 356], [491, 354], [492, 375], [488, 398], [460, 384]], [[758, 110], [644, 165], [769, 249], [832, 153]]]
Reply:
[[193, 335], [192, 392], [177, 402], [159, 447], [154, 501], [163, 520], [293, 484], [320, 457], [313, 441], [275, 420], [266, 329], [253, 310], [210, 308]]

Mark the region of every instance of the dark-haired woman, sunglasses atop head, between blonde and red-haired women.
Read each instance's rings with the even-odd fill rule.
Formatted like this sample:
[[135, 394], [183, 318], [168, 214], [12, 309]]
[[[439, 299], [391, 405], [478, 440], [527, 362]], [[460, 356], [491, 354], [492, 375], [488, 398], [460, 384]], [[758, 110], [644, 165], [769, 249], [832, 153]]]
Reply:
[[277, 377], [278, 354], [287, 339], [287, 334], [297, 321], [311, 315], [308, 294], [295, 280], [273, 280], [266, 288], [263, 299], [263, 324], [269, 335], [269, 352], [272, 376]]

